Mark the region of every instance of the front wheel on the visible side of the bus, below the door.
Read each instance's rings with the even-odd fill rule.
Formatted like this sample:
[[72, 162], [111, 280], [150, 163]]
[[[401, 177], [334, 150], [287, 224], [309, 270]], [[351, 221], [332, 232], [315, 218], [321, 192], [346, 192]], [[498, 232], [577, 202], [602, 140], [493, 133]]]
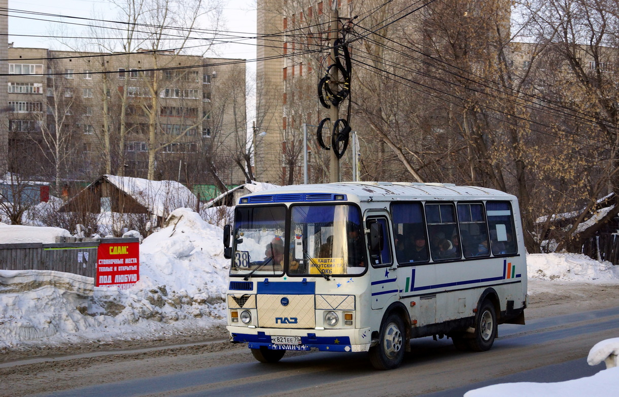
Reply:
[[370, 347], [370, 362], [378, 370], [396, 369], [402, 364], [406, 333], [402, 318], [396, 314], [387, 316], [381, 327], [381, 336], [376, 346]]

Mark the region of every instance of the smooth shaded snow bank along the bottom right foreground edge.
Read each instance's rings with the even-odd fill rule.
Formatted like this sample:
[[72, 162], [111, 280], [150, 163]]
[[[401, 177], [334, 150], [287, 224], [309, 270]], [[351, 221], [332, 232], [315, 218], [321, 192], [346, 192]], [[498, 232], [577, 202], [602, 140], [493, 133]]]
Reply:
[[617, 396], [619, 367], [602, 370], [592, 377], [556, 383], [502, 383], [467, 391], [464, 397], [566, 397], [566, 396]]

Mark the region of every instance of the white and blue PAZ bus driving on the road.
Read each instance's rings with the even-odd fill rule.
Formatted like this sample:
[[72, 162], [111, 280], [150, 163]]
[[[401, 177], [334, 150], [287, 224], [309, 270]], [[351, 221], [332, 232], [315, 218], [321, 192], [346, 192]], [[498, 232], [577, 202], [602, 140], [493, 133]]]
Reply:
[[487, 351], [524, 324], [516, 197], [474, 186], [351, 182], [243, 196], [224, 228], [230, 341], [261, 362], [287, 350], [368, 351], [394, 369], [410, 339]]

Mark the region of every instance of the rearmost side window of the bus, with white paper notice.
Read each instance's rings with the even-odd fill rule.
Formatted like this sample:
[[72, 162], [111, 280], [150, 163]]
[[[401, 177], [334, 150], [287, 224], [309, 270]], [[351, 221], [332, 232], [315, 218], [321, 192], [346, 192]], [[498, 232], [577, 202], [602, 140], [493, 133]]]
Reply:
[[514, 216], [509, 201], [488, 201], [486, 213], [492, 254], [516, 254], [518, 247], [514, 238]]

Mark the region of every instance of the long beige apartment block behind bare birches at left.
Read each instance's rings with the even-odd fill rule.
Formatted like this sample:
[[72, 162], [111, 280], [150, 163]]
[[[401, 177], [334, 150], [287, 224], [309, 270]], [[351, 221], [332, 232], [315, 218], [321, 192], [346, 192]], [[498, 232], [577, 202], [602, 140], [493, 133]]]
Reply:
[[233, 162], [246, 150], [243, 60], [13, 46], [8, 58], [9, 151], [67, 136], [69, 178], [148, 177], [152, 164], [152, 178], [245, 181]]

